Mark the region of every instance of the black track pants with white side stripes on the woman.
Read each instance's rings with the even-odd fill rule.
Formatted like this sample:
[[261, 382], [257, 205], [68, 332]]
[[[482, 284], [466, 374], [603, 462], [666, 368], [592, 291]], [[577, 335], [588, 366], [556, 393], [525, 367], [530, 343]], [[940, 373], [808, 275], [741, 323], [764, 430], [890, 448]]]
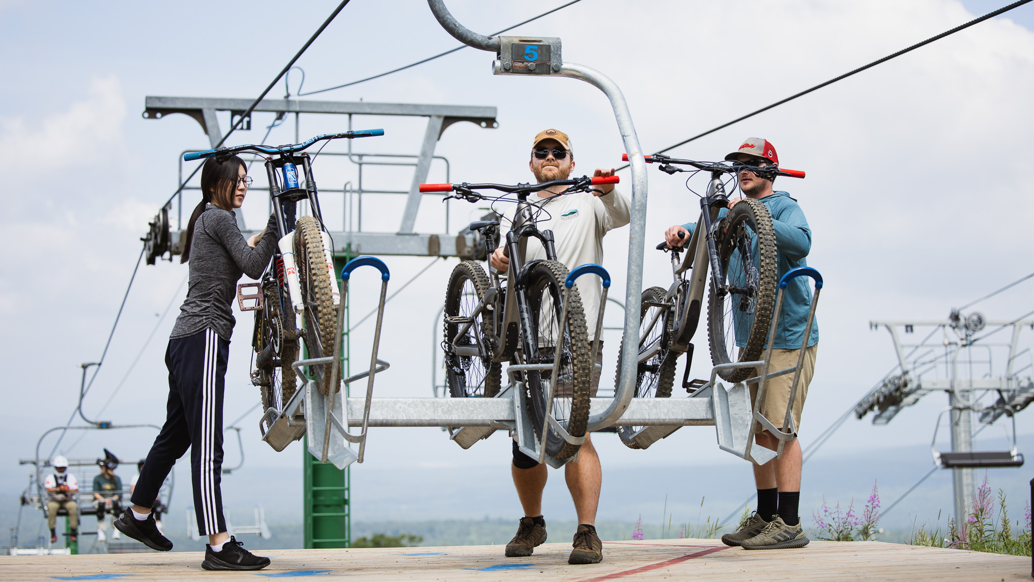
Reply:
[[222, 518], [222, 394], [230, 342], [211, 328], [169, 341], [165, 425], [140, 472], [132, 502], [150, 507], [176, 461], [190, 448], [197, 533], [226, 530]]

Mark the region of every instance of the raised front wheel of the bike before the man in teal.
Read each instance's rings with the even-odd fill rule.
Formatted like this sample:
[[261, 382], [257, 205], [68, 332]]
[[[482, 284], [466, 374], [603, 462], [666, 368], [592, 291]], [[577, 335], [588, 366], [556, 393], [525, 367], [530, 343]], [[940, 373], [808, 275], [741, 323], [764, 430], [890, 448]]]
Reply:
[[[776, 231], [768, 209], [750, 198], [737, 203], [723, 219], [717, 244], [725, 275], [721, 289], [711, 282], [707, 302], [711, 361], [757, 360], [776, 301]], [[739, 382], [754, 376], [754, 369], [723, 370], [719, 376]]]

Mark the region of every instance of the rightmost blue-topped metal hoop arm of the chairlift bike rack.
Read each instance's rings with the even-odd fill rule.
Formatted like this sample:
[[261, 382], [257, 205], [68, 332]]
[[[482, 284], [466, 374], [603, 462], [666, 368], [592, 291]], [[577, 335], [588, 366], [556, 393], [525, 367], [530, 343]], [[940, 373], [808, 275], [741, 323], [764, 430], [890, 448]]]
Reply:
[[[776, 332], [779, 325], [780, 314], [783, 311], [783, 299], [786, 295], [786, 288], [790, 281], [798, 277], [810, 277], [815, 280], [815, 295], [812, 297], [812, 305], [808, 311], [808, 325], [804, 327], [804, 337], [800, 343], [800, 352], [797, 355], [797, 365], [792, 369], [781, 370], [782, 373], [789, 373], [793, 371], [793, 381], [790, 384], [790, 398], [786, 405], [786, 416], [783, 419], [783, 428], [778, 429], [764, 414], [761, 413], [761, 403], [764, 402], [765, 396], [765, 383], [768, 380], [770, 374], [768, 374], [768, 367], [771, 365], [772, 356], [772, 346], [776, 343]], [[751, 420], [751, 434], [754, 433], [754, 427], [756, 424], [760, 424], [763, 430], [767, 430], [772, 436], [779, 439], [779, 445], [776, 447], [776, 458], [783, 458], [783, 445], [787, 441], [796, 438], [797, 427], [793, 425], [793, 404], [797, 397], [797, 381], [800, 379], [801, 366], [804, 362], [804, 350], [808, 349], [808, 341], [812, 336], [812, 325], [815, 322], [815, 308], [819, 303], [819, 293], [822, 291], [822, 275], [819, 271], [812, 267], [796, 267], [790, 269], [783, 275], [783, 279], [779, 282], [779, 295], [776, 298], [776, 310], [772, 312], [772, 322], [771, 328], [768, 331], [768, 347], [765, 349], [764, 363], [761, 365], [761, 377], [758, 379], [758, 394], [754, 399], [754, 411], [752, 413]], [[751, 447], [754, 444], [754, 439], [747, 439], [747, 448], [744, 450], [744, 456], [750, 457]]]

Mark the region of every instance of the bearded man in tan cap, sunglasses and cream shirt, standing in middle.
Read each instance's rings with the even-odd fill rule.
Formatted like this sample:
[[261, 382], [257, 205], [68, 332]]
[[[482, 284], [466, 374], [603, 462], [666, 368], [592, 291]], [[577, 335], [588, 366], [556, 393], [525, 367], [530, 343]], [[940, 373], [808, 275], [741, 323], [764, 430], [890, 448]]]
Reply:
[[[538, 183], [567, 179], [575, 169], [571, 138], [556, 129], [540, 132], [531, 145], [528, 168]], [[614, 170], [597, 169], [594, 176], [611, 176]], [[603, 236], [607, 231], [629, 224], [629, 200], [613, 184], [602, 184], [600, 192], [575, 193], [557, 196], [565, 186], [553, 186], [539, 193], [541, 206], [548, 212], [538, 220], [540, 230], [551, 230], [556, 240], [556, 259], [568, 269], [586, 263], [603, 264]], [[491, 264], [496, 270], [507, 272], [510, 259], [499, 246], [492, 254]], [[537, 238], [527, 239], [525, 261], [545, 259], [546, 251]], [[581, 295], [586, 319], [596, 321], [600, 312], [601, 285], [598, 278], [583, 277], [575, 282]], [[596, 326], [588, 325], [589, 341], [596, 341]], [[597, 351], [597, 363], [603, 362], [603, 340]], [[600, 387], [600, 372], [592, 375], [591, 396]], [[513, 444], [514, 487], [520, 498], [524, 516], [520, 519], [517, 534], [507, 544], [509, 557], [529, 556], [535, 547], [546, 541], [546, 521], [542, 516], [542, 491], [546, 487], [546, 465], [521, 453], [517, 441]], [[578, 460], [569, 461], [564, 468], [568, 490], [578, 514], [578, 530], [569, 563], [597, 563], [603, 559], [603, 544], [596, 533], [596, 511], [600, 503], [603, 473], [600, 458], [592, 447], [589, 435], [578, 450]]]

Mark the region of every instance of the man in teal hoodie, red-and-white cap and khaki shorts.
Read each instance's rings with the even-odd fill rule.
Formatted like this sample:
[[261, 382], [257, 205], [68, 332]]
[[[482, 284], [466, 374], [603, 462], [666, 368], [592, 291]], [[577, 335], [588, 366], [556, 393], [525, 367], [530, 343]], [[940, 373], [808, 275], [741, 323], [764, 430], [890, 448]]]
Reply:
[[[725, 157], [732, 162], [742, 162], [755, 167], [779, 166], [776, 148], [760, 138], [748, 138], [739, 148]], [[812, 249], [812, 229], [808, 226], [804, 212], [797, 201], [783, 191], [772, 190], [774, 178], [764, 178], [754, 172], [739, 172], [739, 187], [747, 198], [759, 200], [768, 209], [776, 230], [779, 274], [782, 278], [794, 267], [804, 266], [805, 257]], [[732, 208], [741, 198], [729, 201]], [[723, 209], [720, 216], [727, 212]], [[680, 245], [690, 239], [695, 224], [675, 225], [665, 231], [669, 246]], [[679, 236], [681, 234], [681, 237]], [[772, 370], [782, 370], [797, 365], [808, 312], [812, 305], [812, 290], [808, 278], [796, 278], [789, 282], [783, 298], [783, 312], [776, 322], [776, 342], [772, 346]], [[737, 324], [738, 327], [738, 324]], [[738, 336], [738, 333], [737, 333]], [[737, 341], [738, 343], [738, 341]], [[818, 351], [819, 326], [813, 322], [808, 348], [801, 366], [800, 381], [793, 406], [793, 426], [800, 430], [800, 412], [808, 396], [808, 385], [815, 372], [815, 355]], [[743, 347], [740, 345], [739, 347]], [[759, 371], [760, 373], [760, 371]], [[793, 374], [786, 374], [768, 380], [765, 384], [765, 400], [761, 412], [769, 419], [780, 420], [786, 415]], [[751, 401], [757, 384], [751, 385]], [[755, 442], [776, 449], [779, 440], [761, 426], [755, 427]], [[800, 444], [794, 438], [784, 445], [783, 458], [764, 465], [754, 465], [754, 481], [758, 489], [758, 508], [743, 523], [738, 531], [722, 536], [729, 546], [742, 546], [748, 550], [773, 550], [779, 548], [800, 548], [808, 545], [808, 537], [800, 525], [798, 504], [800, 501]]]

